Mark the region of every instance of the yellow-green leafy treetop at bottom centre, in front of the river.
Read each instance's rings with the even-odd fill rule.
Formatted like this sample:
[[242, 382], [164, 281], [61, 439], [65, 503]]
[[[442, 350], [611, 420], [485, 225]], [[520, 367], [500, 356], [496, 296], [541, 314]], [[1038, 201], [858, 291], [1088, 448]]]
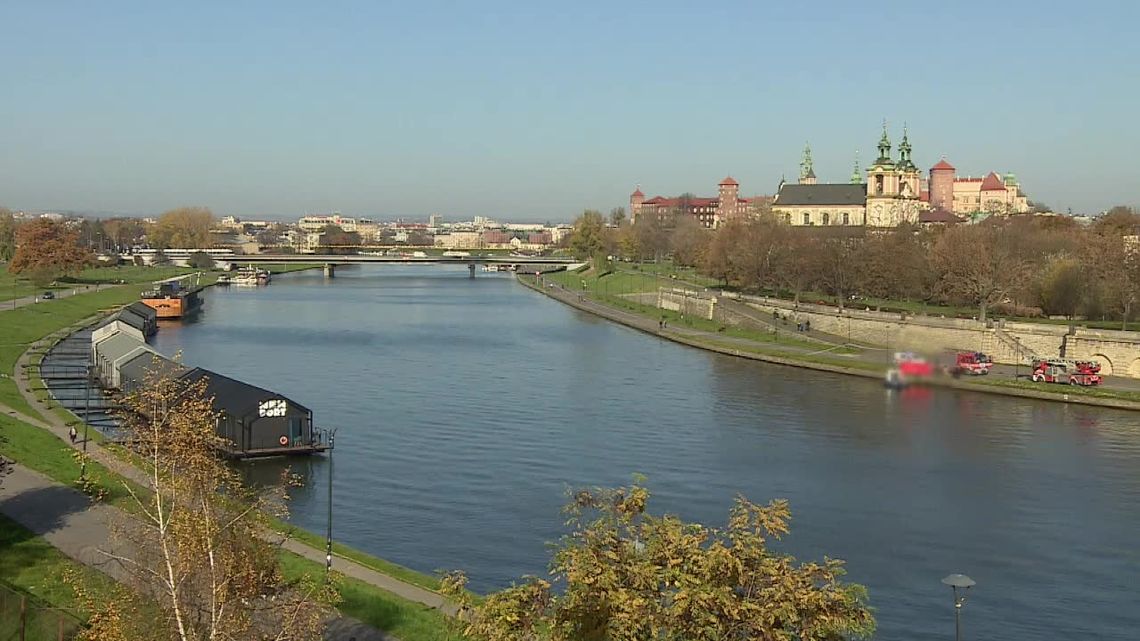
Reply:
[[648, 512], [640, 486], [584, 489], [565, 511], [571, 534], [530, 577], [473, 603], [445, 577], [470, 639], [482, 641], [833, 640], [869, 635], [864, 587], [842, 561], [798, 562], [771, 549], [788, 534], [787, 501], [738, 497], [723, 528]]

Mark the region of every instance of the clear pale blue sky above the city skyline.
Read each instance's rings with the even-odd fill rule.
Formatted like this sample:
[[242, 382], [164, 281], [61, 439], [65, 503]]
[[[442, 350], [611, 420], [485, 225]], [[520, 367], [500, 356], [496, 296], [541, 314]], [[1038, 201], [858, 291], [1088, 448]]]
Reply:
[[[1140, 202], [1140, 3], [3, 2], [0, 204], [569, 220], [915, 161]], [[703, 6], [702, 6], [703, 5]]]

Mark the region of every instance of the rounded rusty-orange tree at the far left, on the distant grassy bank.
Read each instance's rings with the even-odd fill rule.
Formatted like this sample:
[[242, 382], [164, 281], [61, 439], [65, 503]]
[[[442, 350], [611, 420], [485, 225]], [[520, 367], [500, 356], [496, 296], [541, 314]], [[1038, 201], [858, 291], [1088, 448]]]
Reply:
[[81, 269], [90, 254], [79, 246], [79, 234], [64, 222], [39, 218], [16, 230], [16, 252], [8, 271], [46, 285]]

